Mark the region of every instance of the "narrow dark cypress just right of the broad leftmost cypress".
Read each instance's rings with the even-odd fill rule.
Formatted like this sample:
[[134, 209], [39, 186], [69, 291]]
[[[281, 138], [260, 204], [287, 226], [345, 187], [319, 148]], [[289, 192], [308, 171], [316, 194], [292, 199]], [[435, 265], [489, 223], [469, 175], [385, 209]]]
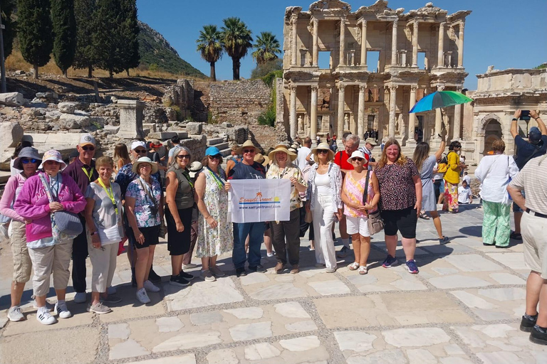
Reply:
[[51, 0], [51, 22], [53, 23], [53, 58], [63, 75], [68, 77], [76, 51], [76, 20], [74, 0]]

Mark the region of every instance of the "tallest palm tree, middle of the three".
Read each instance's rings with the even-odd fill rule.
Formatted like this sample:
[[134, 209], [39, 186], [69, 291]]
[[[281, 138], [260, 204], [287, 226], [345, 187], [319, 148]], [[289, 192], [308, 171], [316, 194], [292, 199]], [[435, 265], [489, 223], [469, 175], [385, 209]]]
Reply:
[[240, 18], [231, 17], [223, 20], [222, 43], [224, 50], [231, 57], [231, 70], [234, 80], [239, 80], [239, 67], [241, 58], [247, 55], [247, 51], [253, 45], [251, 31]]

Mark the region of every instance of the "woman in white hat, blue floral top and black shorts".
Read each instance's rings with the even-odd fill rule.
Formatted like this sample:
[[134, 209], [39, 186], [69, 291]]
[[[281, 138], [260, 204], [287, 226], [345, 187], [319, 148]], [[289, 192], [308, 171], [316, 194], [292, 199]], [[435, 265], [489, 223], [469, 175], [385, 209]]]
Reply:
[[129, 183], [125, 192], [127, 220], [135, 235], [137, 262], [135, 279], [137, 280], [137, 299], [142, 304], [150, 302], [146, 291], [158, 292], [148, 279], [154, 260], [154, 250], [159, 242], [160, 225], [163, 220], [163, 192], [160, 183], [152, 178], [157, 172], [157, 164], [147, 156], [139, 158], [132, 166], [133, 173], [139, 177]]

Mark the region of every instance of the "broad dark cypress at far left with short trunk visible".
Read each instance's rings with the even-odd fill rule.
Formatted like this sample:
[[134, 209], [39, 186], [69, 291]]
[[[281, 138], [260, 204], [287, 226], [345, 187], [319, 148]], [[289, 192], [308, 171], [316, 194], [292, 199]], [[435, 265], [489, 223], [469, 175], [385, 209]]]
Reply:
[[53, 31], [49, 0], [18, 0], [18, 35], [21, 55], [34, 68], [38, 78], [38, 67], [49, 62], [53, 49]]

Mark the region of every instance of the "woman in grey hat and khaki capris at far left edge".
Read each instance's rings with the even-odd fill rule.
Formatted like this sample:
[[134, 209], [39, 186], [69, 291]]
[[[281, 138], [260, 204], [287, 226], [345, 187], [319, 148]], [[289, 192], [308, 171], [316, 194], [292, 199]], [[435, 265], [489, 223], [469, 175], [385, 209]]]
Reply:
[[[41, 156], [31, 146], [27, 146], [19, 152], [14, 161], [14, 168], [20, 173], [11, 176], [4, 187], [4, 194], [0, 200], [0, 213], [11, 218], [11, 255], [14, 257], [14, 278], [11, 282], [11, 306], [8, 311], [9, 321], [21, 321], [24, 319], [21, 313], [21, 296], [25, 289], [25, 283], [31, 279], [32, 262], [28, 255], [25, 236], [25, 219], [15, 212], [14, 202], [21, 193], [27, 178], [36, 174], [38, 164], [41, 164]], [[29, 220], [27, 220], [28, 222]]]

